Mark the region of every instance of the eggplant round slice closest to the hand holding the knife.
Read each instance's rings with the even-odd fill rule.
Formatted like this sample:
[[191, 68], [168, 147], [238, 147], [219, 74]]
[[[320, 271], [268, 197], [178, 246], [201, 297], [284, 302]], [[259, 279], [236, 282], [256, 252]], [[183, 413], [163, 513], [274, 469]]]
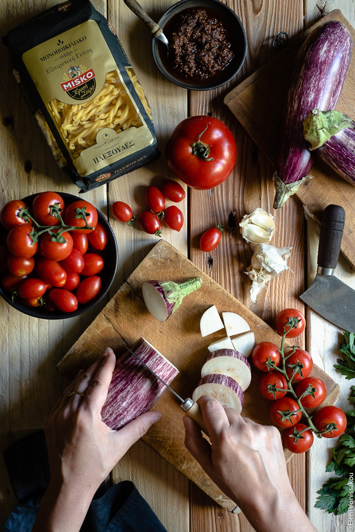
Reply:
[[199, 386], [192, 394], [193, 401], [197, 401], [202, 395], [210, 395], [222, 405], [234, 408], [241, 413], [244, 403], [244, 393], [241, 386], [232, 377], [226, 375], [206, 375], [202, 377]]

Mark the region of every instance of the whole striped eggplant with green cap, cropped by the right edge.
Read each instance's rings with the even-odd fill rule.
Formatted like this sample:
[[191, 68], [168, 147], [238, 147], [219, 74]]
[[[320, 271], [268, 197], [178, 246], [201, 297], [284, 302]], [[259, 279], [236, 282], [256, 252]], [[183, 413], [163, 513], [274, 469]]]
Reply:
[[339, 111], [312, 109], [303, 121], [310, 149], [352, 185], [355, 185], [355, 121]]

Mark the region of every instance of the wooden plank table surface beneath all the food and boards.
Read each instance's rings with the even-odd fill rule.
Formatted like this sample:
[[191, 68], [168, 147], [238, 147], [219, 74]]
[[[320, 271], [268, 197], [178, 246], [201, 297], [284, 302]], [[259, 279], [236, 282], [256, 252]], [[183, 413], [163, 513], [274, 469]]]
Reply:
[[[301, 204], [294, 198], [282, 210], [274, 212], [277, 231], [271, 242], [277, 247], [293, 247], [289, 259], [293, 273], [284, 272], [271, 281], [268, 289], [258, 296], [257, 303], [250, 300], [250, 281], [243, 272], [250, 264], [252, 247], [241, 238], [238, 223], [245, 213], [256, 207], [273, 212], [273, 168], [224, 106], [223, 98], [238, 82], [278, 53], [271, 43], [280, 31], [286, 31], [290, 38], [300, 34], [321, 16], [323, 8], [325, 13], [341, 9], [354, 26], [355, 0], [328, 0], [327, 3], [321, 0], [228, 0], [228, 5], [244, 24], [248, 43], [246, 61], [238, 76], [228, 85], [210, 92], [191, 93], [170, 84], [155, 68], [150, 36], [122, 0], [95, 0], [93, 3], [117, 31], [143, 85], [153, 110], [162, 154], [171, 131], [188, 115], [211, 114], [223, 120], [236, 139], [237, 163], [233, 173], [213, 190], [189, 190], [182, 206], [184, 227], [179, 233], [163, 227], [163, 237], [269, 325], [273, 325], [276, 313], [284, 307], [295, 306], [305, 311], [308, 326], [306, 335], [301, 336], [298, 343], [306, 347], [315, 363], [340, 384], [338, 405], [347, 410], [351, 383], [333, 368], [342, 340], [341, 331], [310, 309], [304, 309], [299, 299], [315, 276], [318, 225], [306, 219]], [[171, 0], [141, 0], [146, 11], [156, 20], [171, 3]], [[54, 4], [56, 2], [52, 0], [3, 0], [0, 4], [1, 35]], [[76, 186], [56, 167], [45, 139], [31, 117], [12, 77], [5, 47], [1, 58], [0, 203], [44, 190], [77, 194]], [[173, 176], [162, 155], [148, 167], [84, 196], [109, 219], [117, 237], [119, 265], [111, 296], [152, 248], [156, 237], [115, 221], [109, 206], [113, 201], [125, 201], [139, 213], [145, 205], [145, 186], [159, 186], [162, 178], [169, 177]], [[225, 225], [225, 235], [216, 250], [203, 253], [199, 248], [200, 236], [218, 223]], [[337, 276], [355, 288], [354, 272], [342, 256]], [[107, 301], [78, 318], [47, 321], [22, 314], [0, 298], [1, 451], [21, 436], [43, 426], [57, 396], [67, 385], [56, 370], [56, 364]], [[329, 516], [314, 508], [316, 491], [329, 477], [324, 469], [335, 442], [336, 439], [317, 440], [307, 455], [295, 455], [287, 466], [296, 496], [319, 532], [346, 529], [346, 514]], [[109, 481], [116, 483], [123, 479], [134, 481], [168, 532], [253, 530], [242, 514], [222, 510], [142, 442], [137, 442], [119, 462]], [[16, 504], [2, 456], [0, 502], [2, 527]]]

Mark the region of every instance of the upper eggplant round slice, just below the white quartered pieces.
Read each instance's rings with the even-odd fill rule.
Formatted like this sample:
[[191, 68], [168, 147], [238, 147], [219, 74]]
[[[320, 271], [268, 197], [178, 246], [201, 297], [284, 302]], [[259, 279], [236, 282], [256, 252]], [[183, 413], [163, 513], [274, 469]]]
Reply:
[[232, 377], [240, 384], [243, 392], [250, 385], [250, 364], [244, 355], [233, 349], [218, 349], [209, 353], [202, 366], [201, 377], [214, 373]]

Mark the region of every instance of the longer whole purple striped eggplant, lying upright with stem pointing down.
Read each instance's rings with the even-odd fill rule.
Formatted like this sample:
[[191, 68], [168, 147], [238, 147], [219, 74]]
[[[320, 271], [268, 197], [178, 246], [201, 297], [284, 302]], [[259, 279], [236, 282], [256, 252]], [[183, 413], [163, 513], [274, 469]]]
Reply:
[[307, 179], [316, 153], [303, 136], [303, 120], [315, 107], [334, 109], [343, 89], [352, 52], [352, 39], [341, 22], [316, 28], [296, 57], [284, 111], [274, 173], [274, 209], [284, 205]]

